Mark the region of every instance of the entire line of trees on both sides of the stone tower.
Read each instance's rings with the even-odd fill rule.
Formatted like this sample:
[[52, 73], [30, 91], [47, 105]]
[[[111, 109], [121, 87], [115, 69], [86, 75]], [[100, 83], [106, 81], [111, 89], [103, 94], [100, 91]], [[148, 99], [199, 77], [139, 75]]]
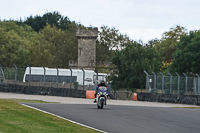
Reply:
[[[59, 12], [30, 16], [26, 20], [0, 21], [0, 64], [18, 67], [68, 68], [77, 60], [76, 30], [84, 25]], [[176, 25], [147, 44], [131, 40], [114, 27], [102, 26], [97, 61], [111, 61], [109, 80], [115, 89], [144, 88], [147, 72], [200, 72], [200, 31], [187, 32]]]

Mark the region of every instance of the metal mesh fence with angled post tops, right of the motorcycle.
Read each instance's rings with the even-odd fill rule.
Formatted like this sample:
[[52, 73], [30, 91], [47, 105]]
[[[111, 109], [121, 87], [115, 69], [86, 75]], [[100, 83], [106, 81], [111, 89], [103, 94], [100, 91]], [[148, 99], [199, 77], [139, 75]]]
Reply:
[[200, 76], [198, 74], [171, 74], [162, 72], [146, 74], [146, 92], [178, 95], [200, 95]]

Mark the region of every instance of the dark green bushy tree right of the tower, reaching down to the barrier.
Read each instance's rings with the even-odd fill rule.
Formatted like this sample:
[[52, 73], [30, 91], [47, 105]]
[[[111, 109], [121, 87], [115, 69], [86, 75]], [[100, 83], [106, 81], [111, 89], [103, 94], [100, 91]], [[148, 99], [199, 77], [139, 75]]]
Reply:
[[116, 51], [112, 59], [116, 69], [109, 80], [113, 88], [144, 88], [146, 71], [159, 71], [160, 58], [154, 47], [143, 47], [134, 42], [125, 49]]

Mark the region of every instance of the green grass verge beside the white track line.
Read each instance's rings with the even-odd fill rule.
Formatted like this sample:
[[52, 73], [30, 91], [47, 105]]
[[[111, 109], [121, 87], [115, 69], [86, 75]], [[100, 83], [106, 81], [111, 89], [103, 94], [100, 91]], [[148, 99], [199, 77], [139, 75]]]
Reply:
[[0, 99], [0, 133], [96, 133], [19, 103], [45, 103], [34, 100]]

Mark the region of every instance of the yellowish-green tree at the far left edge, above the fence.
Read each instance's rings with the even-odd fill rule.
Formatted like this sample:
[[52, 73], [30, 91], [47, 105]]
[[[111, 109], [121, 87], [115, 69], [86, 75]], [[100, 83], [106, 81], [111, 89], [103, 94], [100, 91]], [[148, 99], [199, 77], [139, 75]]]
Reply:
[[14, 21], [0, 22], [0, 62], [3, 66], [26, 66], [32, 36], [31, 27], [18, 26]]

